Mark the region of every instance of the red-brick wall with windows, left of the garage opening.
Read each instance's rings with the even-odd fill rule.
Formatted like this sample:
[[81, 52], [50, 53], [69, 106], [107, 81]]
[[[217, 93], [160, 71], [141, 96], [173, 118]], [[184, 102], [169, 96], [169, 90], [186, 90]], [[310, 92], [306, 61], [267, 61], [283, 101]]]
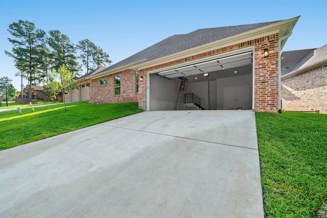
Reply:
[[[121, 75], [121, 94], [114, 94], [114, 76]], [[101, 79], [107, 84], [100, 85]], [[93, 104], [137, 102], [135, 71], [128, 69], [97, 78], [90, 83], [90, 101]]]

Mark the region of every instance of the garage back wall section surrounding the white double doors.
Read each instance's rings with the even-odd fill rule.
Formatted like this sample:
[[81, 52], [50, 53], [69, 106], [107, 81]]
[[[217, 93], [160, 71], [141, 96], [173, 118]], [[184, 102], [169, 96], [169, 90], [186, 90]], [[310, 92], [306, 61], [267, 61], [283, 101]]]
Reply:
[[252, 75], [217, 79], [217, 110], [224, 109], [224, 87], [249, 86], [250, 107], [252, 105]]

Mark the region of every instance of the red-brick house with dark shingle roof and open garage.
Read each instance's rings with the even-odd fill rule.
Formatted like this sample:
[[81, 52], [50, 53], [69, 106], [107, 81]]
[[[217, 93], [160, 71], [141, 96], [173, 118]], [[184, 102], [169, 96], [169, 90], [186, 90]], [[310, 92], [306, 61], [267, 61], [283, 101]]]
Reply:
[[89, 101], [178, 110], [189, 94], [206, 110], [281, 111], [280, 51], [298, 18], [173, 35], [86, 76]]

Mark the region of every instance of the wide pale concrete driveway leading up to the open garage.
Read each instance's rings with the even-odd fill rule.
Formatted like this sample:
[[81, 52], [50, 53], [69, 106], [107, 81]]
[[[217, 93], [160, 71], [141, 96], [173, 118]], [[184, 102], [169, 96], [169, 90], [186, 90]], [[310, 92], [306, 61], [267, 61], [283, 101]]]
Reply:
[[0, 217], [264, 217], [247, 110], [143, 112], [0, 163]]

